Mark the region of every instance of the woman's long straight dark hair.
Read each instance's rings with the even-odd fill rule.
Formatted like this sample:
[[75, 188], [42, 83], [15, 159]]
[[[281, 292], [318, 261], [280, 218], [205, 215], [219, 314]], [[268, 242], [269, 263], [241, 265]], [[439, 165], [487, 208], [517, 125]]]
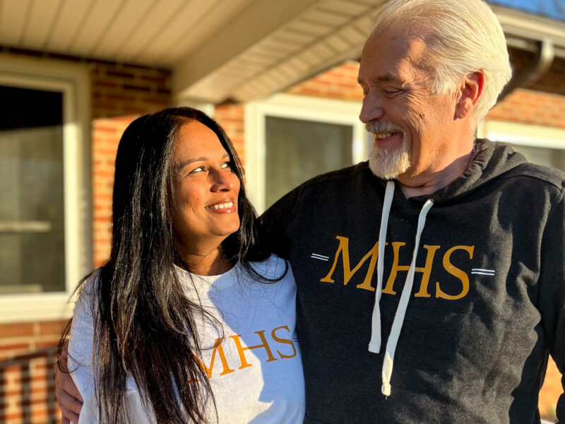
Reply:
[[[133, 121], [119, 142], [112, 205], [112, 251], [97, 276], [94, 305], [95, 393], [102, 423], [126, 423], [126, 377], [158, 423], [206, 423], [213, 394], [201, 367], [198, 302], [186, 298], [174, 269], [172, 160], [179, 129], [208, 126], [230, 155], [239, 189], [239, 230], [222, 243], [224, 254], [260, 278], [249, 261], [262, 260], [256, 213], [245, 196], [243, 168], [222, 128], [206, 114], [175, 107]], [[182, 264], [188, 268], [186, 264]], [[86, 279], [85, 279], [86, 280]], [[201, 319], [201, 318], [200, 318]], [[66, 330], [62, 341], [68, 335]], [[196, 383], [195, 382], [199, 382]]]

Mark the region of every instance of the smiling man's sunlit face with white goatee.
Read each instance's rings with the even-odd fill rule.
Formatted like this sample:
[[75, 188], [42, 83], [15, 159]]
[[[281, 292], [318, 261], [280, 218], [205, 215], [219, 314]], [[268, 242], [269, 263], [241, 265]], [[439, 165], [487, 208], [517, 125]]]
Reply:
[[383, 179], [437, 169], [452, 141], [456, 100], [432, 93], [421, 66], [426, 52], [426, 42], [403, 28], [371, 35], [364, 45], [359, 119], [374, 137], [369, 166]]

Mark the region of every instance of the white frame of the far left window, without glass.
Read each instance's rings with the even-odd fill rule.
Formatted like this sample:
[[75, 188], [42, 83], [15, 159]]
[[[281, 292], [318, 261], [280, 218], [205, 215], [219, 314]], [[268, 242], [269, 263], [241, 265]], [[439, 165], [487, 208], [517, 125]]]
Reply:
[[0, 323], [71, 317], [69, 297], [92, 269], [90, 77], [86, 65], [0, 54], [0, 84], [63, 93], [65, 289], [0, 295]]

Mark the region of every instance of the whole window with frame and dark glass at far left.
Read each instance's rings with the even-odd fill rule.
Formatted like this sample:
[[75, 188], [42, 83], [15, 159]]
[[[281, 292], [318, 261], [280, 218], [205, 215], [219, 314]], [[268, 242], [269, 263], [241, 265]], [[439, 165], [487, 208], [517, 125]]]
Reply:
[[0, 63], [0, 322], [57, 319], [91, 266], [88, 72]]

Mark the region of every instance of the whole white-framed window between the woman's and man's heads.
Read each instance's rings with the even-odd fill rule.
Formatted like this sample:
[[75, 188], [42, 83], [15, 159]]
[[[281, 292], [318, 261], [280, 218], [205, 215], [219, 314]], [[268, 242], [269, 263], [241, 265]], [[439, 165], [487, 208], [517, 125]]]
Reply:
[[258, 213], [311, 177], [367, 160], [360, 109], [286, 94], [246, 105], [246, 188]]

